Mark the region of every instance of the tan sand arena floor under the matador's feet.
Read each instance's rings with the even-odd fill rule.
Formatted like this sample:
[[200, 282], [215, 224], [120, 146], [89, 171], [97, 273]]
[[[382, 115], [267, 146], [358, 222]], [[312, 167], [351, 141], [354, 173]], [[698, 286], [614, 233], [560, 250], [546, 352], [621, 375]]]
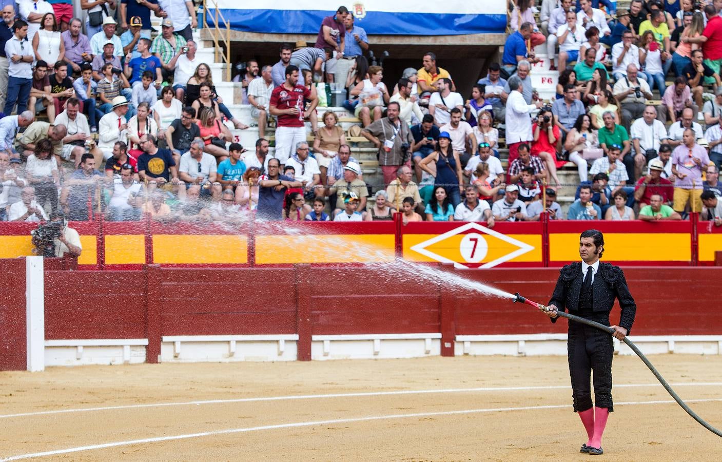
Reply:
[[[722, 356], [651, 359], [722, 428]], [[0, 372], [0, 459], [588, 460], [570, 395], [565, 357]], [[601, 458], [722, 459], [722, 438], [671, 401], [637, 357], [614, 358], [613, 396]]]

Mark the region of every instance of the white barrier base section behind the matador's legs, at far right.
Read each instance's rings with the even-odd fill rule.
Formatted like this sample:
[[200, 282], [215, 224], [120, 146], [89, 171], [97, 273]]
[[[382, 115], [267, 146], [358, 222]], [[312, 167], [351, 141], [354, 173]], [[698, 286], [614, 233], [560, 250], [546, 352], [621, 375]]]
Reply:
[[[722, 336], [631, 336], [643, 354], [722, 354]], [[614, 339], [615, 354], [635, 354], [627, 344]], [[566, 334], [458, 335], [454, 354], [485, 356], [540, 356], [567, 354]]]

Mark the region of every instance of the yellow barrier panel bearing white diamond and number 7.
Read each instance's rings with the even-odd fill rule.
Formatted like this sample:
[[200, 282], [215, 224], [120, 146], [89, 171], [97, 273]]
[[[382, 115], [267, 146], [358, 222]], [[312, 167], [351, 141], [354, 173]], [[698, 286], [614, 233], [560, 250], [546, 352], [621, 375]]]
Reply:
[[[466, 251], [462, 254], [462, 240], [467, 235], [468, 234], [452, 235], [444, 240], [439, 241], [438, 243], [424, 246], [424, 248], [431, 253], [442, 256], [444, 258], [448, 258], [449, 260], [456, 261], [458, 263], [487, 263], [490, 261], [494, 261], [497, 258], [502, 258], [503, 256], [508, 255], [509, 253], [512, 253], [513, 251], [519, 249], [517, 245], [514, 245], [513, 243], [508, 243], [505, 240], [499, 239], [498, 237], [477, 233], [477, 236], [475, 237], [477, 239], [483, 238], [484, 242], [486, 243], [486, 253], [484, 257], [479, 260], [479, 257], [482, 256], [482, 252], [484, 252], [484, 250], [482, 250], [484, 246], [479, 246], [477, 249], [474, 249], [469, 248], [468, 243], [464, 243], [464, 245], [466, 246]], [[430, 256], [425, 256], [421, 253], [411, 250], [414, 245], [422, 244], [426, 240], [432, 239], [433, 237], [437, 236], [438, 235], [435, 234], [404, 234], [404, 259], [411, 261], [440, 261], [436, 258], [431, 258]], [[521, 240], [521, 242], [534, 247], [532, 250], [529, 250], [529, 252], [523, 253], [522, 255], [517, 256], [516, 258], [512, 258], [509, 261], [526, 261], [541, 263], [541, 235], [510, 234], [506, 236], [512, 237], [516, 240]]]

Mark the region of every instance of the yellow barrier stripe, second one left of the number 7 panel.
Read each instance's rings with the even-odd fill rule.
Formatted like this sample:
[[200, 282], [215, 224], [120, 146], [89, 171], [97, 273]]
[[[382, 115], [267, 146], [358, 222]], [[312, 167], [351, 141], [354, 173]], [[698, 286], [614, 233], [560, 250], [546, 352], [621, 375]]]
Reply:
[[245, 235], [154, 235], [153, 263], [248, 263], [248, 239]]

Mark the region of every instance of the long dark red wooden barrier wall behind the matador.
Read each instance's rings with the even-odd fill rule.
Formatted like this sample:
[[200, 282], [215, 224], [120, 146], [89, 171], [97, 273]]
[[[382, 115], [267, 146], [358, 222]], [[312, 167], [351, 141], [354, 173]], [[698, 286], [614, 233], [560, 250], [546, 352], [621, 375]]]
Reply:
[[[0, 260], [0, 369], [25, 369], [25, 260]], [[455, 271], [448, 266], [443, 271]], [[546, 303], [558, 269], [455, 271]], [[458, 334], [564, 332], [510, 300], [449, 286], [440, 277], [386, 274], [378, 266], [46, 271], [46, 339], [147, 338], [157, 362], [168, 335], [298, 334], [310, 359], [313, 334], [440, 332], [442, 354]], [[722, 334], [716, 267], [627, 267], [638, 303], [635, 335]], [[612, 322], [619, 318], [612, 313]]]

